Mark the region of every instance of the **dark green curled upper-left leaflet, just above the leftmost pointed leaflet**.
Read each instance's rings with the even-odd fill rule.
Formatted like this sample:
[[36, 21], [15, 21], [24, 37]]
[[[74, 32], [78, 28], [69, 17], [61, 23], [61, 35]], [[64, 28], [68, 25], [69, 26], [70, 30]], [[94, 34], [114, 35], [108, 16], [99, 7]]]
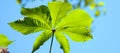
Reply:
[[40, 22], [44, 23], [47, 28], [51, 29], [52, 19], [50, 17], [49, 9], [46, 6], [41, 5], [40, 7], [36, 8], [22, 8], [21, 14], [26, 17], [39, 20]]

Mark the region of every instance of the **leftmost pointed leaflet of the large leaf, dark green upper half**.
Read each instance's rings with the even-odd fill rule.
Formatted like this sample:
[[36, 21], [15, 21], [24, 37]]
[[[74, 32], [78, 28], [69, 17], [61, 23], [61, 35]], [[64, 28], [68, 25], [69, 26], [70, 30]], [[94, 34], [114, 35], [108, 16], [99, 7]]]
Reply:
[[14, 30], [17, 30], [25, 35], [48, 29], [44, 23], [30, 17], [21, 18], [20, 20], [9, 23], [9, 25]]

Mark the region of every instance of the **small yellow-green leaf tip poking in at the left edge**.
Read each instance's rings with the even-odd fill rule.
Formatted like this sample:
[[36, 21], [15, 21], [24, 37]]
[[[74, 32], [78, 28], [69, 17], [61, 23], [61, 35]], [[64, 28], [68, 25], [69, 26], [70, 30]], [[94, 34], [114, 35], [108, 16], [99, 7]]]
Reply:
[[0, 47], [8, 47], [12, 41], [10, 41], [5, 35], [0, 34]]

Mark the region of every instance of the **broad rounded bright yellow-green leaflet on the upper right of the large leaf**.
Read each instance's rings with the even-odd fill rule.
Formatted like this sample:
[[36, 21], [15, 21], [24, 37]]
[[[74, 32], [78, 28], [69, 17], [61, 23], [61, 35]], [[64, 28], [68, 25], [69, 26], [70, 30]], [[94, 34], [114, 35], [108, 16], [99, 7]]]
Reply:
[[71, 11], [61, 22], [57, 25], [57, 30], [62, 30], [68, 27], [90, 27], [92, 24], [92, 18], [89, 14], [82, 10], [76, 9]]

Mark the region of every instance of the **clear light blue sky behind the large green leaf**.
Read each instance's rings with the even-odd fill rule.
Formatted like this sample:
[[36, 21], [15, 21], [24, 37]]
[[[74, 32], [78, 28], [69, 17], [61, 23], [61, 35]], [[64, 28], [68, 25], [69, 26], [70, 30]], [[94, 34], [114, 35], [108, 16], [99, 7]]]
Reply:
[[[120, 6], [119, 0], [100, 0], [105, 2], [107, 14], [103, 14], [96, 18], [92, 29], [94, 39], [85, 42], [74, 42], [69, 39], [71, 53], [120, 53]], [[43, 3], [39, 0], [29, 2], [27, 7], [35, 7], [41, 4], [47, 5], [46, 0]], [[23, 35], [20, 32], [13, 30], [8, 23], [15, 21], [21, 17], [20, 6], [16, 4], [16, 0], [1, 0], [0, 1], [0, 33], [8, 36], [14, 42], [8, 47], [10, 53], [31, 53], [33, 43], [36, 37], [41, 33], [33, 33]], [[86, 8], [85, 8], [86, 9]], [[91, 17], [94, 17], [93, 11], [86, 9]], [[1, 41], [1, 40], [0, 40]], [[35, 53], [48, 53], [50, 39]], [[54, 39], [52, 53], [63, 53], [59, 48], [59, 44]]]

